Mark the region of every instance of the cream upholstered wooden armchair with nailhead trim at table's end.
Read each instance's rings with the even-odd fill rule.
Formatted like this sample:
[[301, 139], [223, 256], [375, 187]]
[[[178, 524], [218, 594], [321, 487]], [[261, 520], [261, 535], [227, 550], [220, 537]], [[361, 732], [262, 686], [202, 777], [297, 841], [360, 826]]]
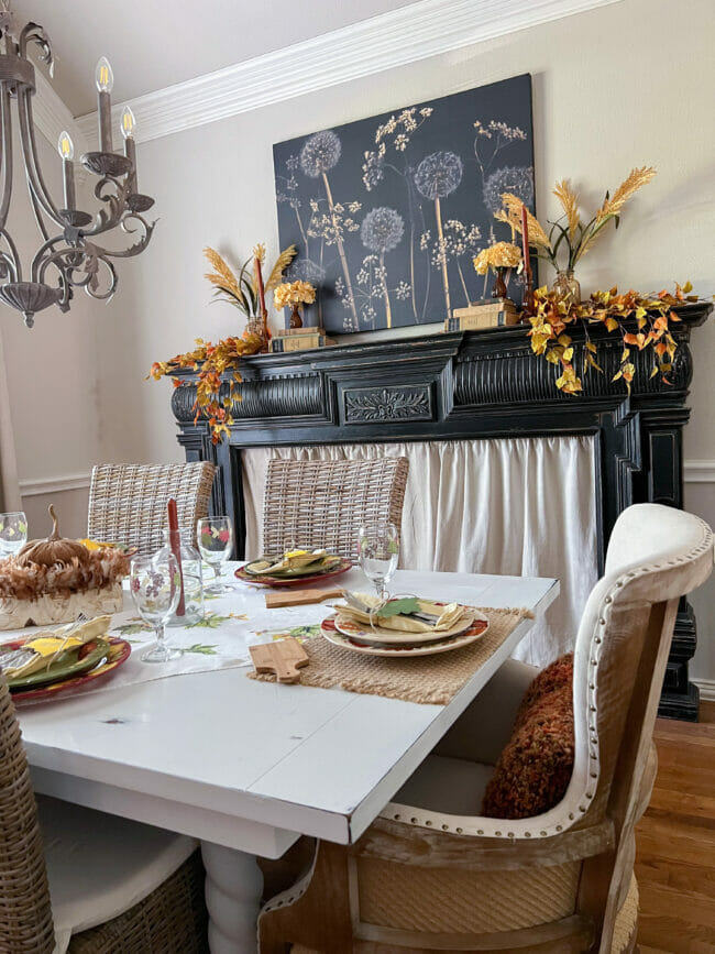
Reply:
[[263, 954], [298, 951], [635, 950], [635, 825], [657, 760], [652, 731], [678, 603], [713, 568], [691, 514], [629, 507], [586, 603], [574, 654], [575, 761], [550, 811], [477, 816], [536, 670], [512, 661], [351, 847], [263, 909]]

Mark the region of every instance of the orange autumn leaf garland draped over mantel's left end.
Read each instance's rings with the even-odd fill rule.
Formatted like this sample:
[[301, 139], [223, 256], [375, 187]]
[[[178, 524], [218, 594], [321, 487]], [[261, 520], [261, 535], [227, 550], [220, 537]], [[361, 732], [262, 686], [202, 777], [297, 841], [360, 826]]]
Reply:
[[[231, 406], [234, 401], [241, 401], [237, 387], [242, 381], [238, 366], [245, 354], [255, 354], [261, 350], [262, 339], [256, 335], [244, 332], [242, 338], [224, 338], [218, 344], [196, 339], [194, 351], [177, 354], [169, 361], [156, 361], [152, 364], [151, 376], [158, 381], [165, 375], [172, 375], [179, 369], [189, 368], [198, 371], [196, 382], [196, 401], [194, 402], [196, 424], [199, 417], [208, 419], [211, 428], [211, 440], [218, 443], [222, 434], [229, 432], [233, 423]], [[231, 371], [230, 376], [223, 376]], [[174, 387], [182, 387], [182, 381], [174, 379]]]

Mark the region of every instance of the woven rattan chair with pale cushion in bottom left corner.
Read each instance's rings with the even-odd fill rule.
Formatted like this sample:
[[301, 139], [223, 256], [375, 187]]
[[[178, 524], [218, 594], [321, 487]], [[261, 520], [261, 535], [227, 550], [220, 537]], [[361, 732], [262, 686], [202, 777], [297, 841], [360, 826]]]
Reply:
[[[3, 954], [208, 951], [204, 867], [191, 838], [54, 799], [38, 801], [42, 826], [0, 673]], [[124, 890], [118, 873], [127, 876]]]

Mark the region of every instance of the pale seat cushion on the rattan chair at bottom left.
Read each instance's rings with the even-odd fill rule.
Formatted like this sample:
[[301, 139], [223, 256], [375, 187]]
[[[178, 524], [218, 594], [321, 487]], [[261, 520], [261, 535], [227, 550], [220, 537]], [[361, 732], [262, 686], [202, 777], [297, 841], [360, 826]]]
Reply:
[[37, 797], [55, 922], [55, 954], [160, 887], [197, 847], [165, 832], [58, 799]]

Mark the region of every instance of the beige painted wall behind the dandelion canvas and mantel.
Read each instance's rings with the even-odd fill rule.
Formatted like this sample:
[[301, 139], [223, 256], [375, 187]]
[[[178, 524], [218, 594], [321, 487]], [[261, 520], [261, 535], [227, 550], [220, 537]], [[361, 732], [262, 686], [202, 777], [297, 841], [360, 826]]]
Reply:
[[[634, 165], [659, 171], [618, 233], [584, 260], [584, 290], [651, 290], [690, 278], [701, 294], [715, 292], [713, 20], [712, 0], [678, 8], [624, 0], [141, 145], [140, 184], [156, 196], [161, 221], [150, 249], [120, 265], [113, 301], [70, 316], [48, 312], [30, 335], [3, 310], [11, 383], [30, 391], [13, 402], [21, 476], [76, 473], [99, 458], [182, 459], [170, 386], [144, 375], [198, 336], [242, 330], [233, 308], [209, 307], [201, 249], [212, 244], [235, 260], [265, 240], [275, 251], [273, 142], [516, 74], [534, 79], [542, 216], [554, 209], [549, 190], [557, 178], [571, 177], [591, 207]], [[715, 460], [715, 321], [695, 332], [694, 343], [685, 456]], [[47, 407], [43, 391], [52, 394], [50, 426], [37, 424]], [[715, 524], [711, 491], [700, 485], [689, 501]], [[710, 593], [708, 605], [715, 586]], [[715, 679], [707, 643], [715, 619], [708, 632], [701, 626], [701, 638], [694, 671]]]

